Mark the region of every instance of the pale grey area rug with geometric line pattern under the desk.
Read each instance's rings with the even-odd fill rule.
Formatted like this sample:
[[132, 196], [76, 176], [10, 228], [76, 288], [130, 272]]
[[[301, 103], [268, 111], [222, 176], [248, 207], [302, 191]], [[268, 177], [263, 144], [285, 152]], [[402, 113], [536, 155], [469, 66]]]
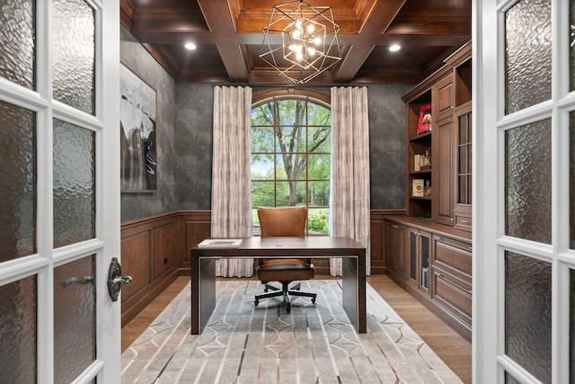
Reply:
[[367, 334], [341, 307], [341, 281], [302, 281], [291, 313], [259, 281], [217, 281], [217, 307], [190, 335], [190, 285], [122, 354], [123, 383], [461, 383], [367, 284]]

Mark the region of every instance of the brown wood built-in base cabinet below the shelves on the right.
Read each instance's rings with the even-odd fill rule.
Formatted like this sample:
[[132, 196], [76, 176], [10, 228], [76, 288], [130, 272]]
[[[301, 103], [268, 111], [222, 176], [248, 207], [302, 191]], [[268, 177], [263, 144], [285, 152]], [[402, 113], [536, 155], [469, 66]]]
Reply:
[[387, 274], [471, 341], [471, 233], [409, 216], [387, 216], [384, 228]]

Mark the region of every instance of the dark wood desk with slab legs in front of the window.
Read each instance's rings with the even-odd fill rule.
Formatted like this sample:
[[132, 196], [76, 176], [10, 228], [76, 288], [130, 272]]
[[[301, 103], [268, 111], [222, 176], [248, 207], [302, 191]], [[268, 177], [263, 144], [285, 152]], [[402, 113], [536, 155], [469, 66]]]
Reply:
[[342, 257], [342, 303], [358, 334], [366, 333], [366, 248], [349, 237], [246, 237], [238, 248], [191, 249], [191, 334], [199, 335], [216, 308], [219, 258]]

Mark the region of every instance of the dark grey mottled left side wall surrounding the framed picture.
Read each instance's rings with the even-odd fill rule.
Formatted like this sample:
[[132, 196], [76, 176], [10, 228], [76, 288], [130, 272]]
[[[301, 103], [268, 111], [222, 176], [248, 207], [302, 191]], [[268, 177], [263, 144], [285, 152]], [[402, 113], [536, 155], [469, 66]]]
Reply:
[[120, 33], [120, 59], [126, 67], [155, 89], [156, 96], [157, 189], [155, 192], [122, 193], [123, 222], [177, 210], [175, 188], [177, 156], [174, 154], [174, 143], [177, 138], [173, 78], [123, 26]]

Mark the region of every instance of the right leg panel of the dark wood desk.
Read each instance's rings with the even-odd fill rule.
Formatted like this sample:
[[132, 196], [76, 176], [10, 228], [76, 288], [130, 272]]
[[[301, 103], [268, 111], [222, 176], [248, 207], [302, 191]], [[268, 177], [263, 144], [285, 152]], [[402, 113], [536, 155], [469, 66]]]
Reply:
[[365, 256], [343, 257], [342, 264], [343, 309], [358, 334], [365, 334], [367, 332]]

